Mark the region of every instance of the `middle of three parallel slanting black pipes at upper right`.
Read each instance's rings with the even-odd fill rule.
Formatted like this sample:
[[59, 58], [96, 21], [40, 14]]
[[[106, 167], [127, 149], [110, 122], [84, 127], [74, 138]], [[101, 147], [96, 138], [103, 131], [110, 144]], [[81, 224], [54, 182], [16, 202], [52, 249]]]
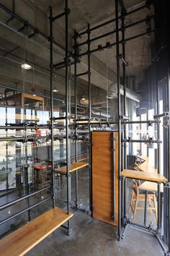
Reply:
[[[150, 18], [153, 18], [153, 17], [154, 17], [154, 16], [151, 16]], [[146, 22], [147, 19], [148, 19], [148, 18], [145, 18], [145, 19], [143, 19], [143, 20], [138, 20], [137, 22], [133, 22], [133, 23], [131, 23], [131, 24], [129, 24], [129, 25], [126, 25], [126, 26], [124, 27], [124, 29], [126, 30], [126, 29], [128, 29], [128, 28], [130, 28], [130, 27], [133, 27], [133, 26], [135, 26], [135, 25], [139, 25], [139, 24], [141, 24], [141, 23], [143, 23], [143, 22]], [[121, 31], [121, 30], [122, 30], [122, 28], [120, 27], [119, 31]], [[97, 37], [95, 37], [95, 38], [91, 38], [90, 43], [94, 42], [95, 40], [99, 40], [99, 39], [101, 39], [101, 38], [105, 38], [105, 37], [107, 37], [108, 35], [112, 35], [112, 34], [115, 34], [115, 33], [116, 33], [116, 30], [113, 30], [113, 31], [110, 31], [110, 32], [108, 32], [108, 33], [104, 33], [103, 35], [99, 35], [99, 36], [97, 36]], [[76, 44], [76, 47], [84, 46], [84, 44], [86, 44], [86, 43], [88, 43], [88, 40], [86, 40], [86, 41], [84, 41], [84, 42], [82, 42], [82, 43], [77, 43], [77, 44]], [[75, 47], [75, 46], [73, 46], [73, 47]]]

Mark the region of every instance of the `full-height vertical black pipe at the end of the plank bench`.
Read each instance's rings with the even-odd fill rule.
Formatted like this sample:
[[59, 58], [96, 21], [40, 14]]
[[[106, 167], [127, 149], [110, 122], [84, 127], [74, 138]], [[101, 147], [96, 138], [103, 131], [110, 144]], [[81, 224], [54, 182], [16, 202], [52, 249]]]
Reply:
[[[65, 1], [65, 77], [66, 77], [66, 176], [67, 176], [67, 213], [70, 213], [70, 173], [69, 173], [69, 138], [68, 138], [68, 0]], [[68, 229], [69, 229], [69, 222], [68, 222]]]

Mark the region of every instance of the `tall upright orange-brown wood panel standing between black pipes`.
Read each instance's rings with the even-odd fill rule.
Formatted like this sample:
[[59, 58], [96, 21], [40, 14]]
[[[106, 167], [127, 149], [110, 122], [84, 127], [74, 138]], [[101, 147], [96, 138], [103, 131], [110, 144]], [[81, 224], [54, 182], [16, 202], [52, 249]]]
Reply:
[[113, 132], [92, 132], [92, 216], [117, 226], [118, 133], [115, 132], [115, 221], [113, 215]]

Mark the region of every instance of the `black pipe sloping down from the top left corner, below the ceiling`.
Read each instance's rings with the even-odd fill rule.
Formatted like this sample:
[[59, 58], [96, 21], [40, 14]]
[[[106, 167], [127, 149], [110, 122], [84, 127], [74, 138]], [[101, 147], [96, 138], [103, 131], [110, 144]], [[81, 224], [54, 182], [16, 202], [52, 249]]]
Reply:
[[[30, 27], [32, 30], [38, 31], [38, 34], [41, 35], [43, 38], [45, 38], [47, 40], [49, 39], [48, 35], [45, 35], [45, 33], [42, 33], [36, 27], [32, 26], [29, 22], [27, 22], [27, 20], [24, 20], [24, 19], [22, 19], [22, 17], [19, 17], [19, 15], [17, 15], [15, 12], [12, 12], [12, 10], [5, 7], [4, 4], [0, 4], [0, 8], [3, 9], [5, 12], [11, 14], [12, 17], [15, 17], [17, 20], [19, 20], [19, 22], [22, 22], [23, 24], [27, 24], [27, 27]], [[60, 43], [56, 42], [55, 40], [53, 40], [53, 43], [55, 44], [55, 46], [58, 46], [63, 51], [65, 51], [65, 48], [63, 46], [61, 46]]]

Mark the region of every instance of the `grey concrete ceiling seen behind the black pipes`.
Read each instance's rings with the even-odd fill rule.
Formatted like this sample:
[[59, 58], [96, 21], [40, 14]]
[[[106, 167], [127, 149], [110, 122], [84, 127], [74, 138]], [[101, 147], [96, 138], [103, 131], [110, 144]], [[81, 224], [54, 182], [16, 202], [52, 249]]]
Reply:
[[[124, 0], [125, 7], [130, 10], [134, 7], [139, 7], [142, 0]], [[4, 4], [9, 9], [12, 9], [12, 0], [1, 0], [1, 4]], [[49, 35], [49, 24], [48, 24], [48, 15], [49, 15], [49, 6], [53, 7], [53, 15], [59, 14], [63, 12], [63, 0], [17, 0], [15, 1], [15, 12], [21, 16], [24, 20], [28, 20], [32, 25], [38, 27], [38, 29], [42, 30], [43, 33]], [[112, 0], [69, 0], [68, 1], [69, 8], [71, 9], [71, 14], [69, 14], [69, 35], [70, 35], [70, 43], [69, 49], [72, 50], [72, 40], [71, 36], [73, 35], [73, 30], [76, 29], [78, 31], [86, 29], [87, 22], [91, 24], [91, 26], [99, 24], [99, 22], [104, 22], [109, 20], [112, 17], [115, 17], [115, 4]], [[146, 17], [146, 15], [152, 13], [151, 11], [142, 11], [138, 12], [138, 14], [134, 14], [133, 17], [128, 17], [126, 19], [126, 24], [130, 22], [135, 22], [136, 20], [141, 20]], [[0, 9], [0, 20], [6, 25], [6, 20], [9, 20], [11, 15], [6, 14], [3, 10]], [[34, 64], [37, 69], [40, 69], [42, 72], [49, 71], [49, 43], [47, 40], [42, 38], [40, 35], [37, 35], [32, 40], [26, 40], [23, 35], [21, 36], [19, 33], [15, 33], [15, 29], [19, 29], [22, 27], [22, 23], [18, 22], [16, 19], [13, 19], [9, 22], [7, 27], [1, 25], [1, 55], [5, 54], [12, 49], [17, 48], [12, 54], [8, 54], [8, 57], [14, 59], [15, 61], [20, 61], [25, 56], [24, 49], [27, 49], [27, 59], [29, 61], [33, 61], [34, 54]], [[13, 27], [13, 29], [9, 30], [9, 27]], [[95, 30], [95, 33], [91, 33], [91, 38], [96, 37], [97, 35], [101, 35], [102, 33], [107, 33], [110, 30], [115, 30], [115, 24], [111, 24], [107, 27], [103, 27], [100, 30]], [[126, 30], [126, 36], [130, 37], [132, 35], [136, 35], [139, 33], [143, 33], [146, 31], [146, 25], [143, 23], [142, 25], [138, 25], [135, 28], [130, 28]], [[24, 30], [24, 34], [32, 33], [31, 30]], [[54, 38], [58, 43], [64, 46], [64, 22], [63, 18], [58, 20], [58, 22], [54, 24]], [[3, 40], [5, 38], [5, 40]], [[82, 37], [81, 40], [86, 38]], [[127, 75], [135, 76], [137, 78], [137, 82], [140, 81], [143, 77], [143, 69], [146, 69], [149, 64], [151, 64], [150, 58], [150, 46], [151, 40], [153, 38], [138, 38], [136, 40], [131, 41], [126, 44], [126, 60], [129, 65], [127, 67]], [[96, 48], [99, 44], [105, 45], [107, 41], [115, 42], [115, 35], [111, 35], [107, 38], [97, 41], [97, 43], [92, 43], [91, 48]], [[86, 51], [86, 46], [81, 47], [81, 51]], [[121, 50], [120, 50], [121, 52]], [[116, 80], [116, 62], [115, 62], [115, 48], [112, 48], [108, 51], [97, 52], [91, 55], [91, 82], [99, 88], [106, 89], [106, 78], [108, 83], [114, 82]], [[63, 51], [54, 46], [54, 63], [60, 62], [64, 57]], [[1, 59], [1, 64], [3, 63], [3, 59]], [[84, 72], [87, 70], [87, 58], [86, 56], [81, 58], [81, 64], [78, 66], [79, 72]], [[72, 72], [73, 69], [71, 68]], [[64, 86], [64, 71], [57, 72], [59, 77], [63, 76], [63, 80], [60, 78], [59, 85], [61, 88]], [[107, 74], [107, 77], [106, 77]], [[1, 75], [2, 72], [1, 72]], [[6, 74], [7, 75], [7, 74]], [[42, 76], [42, 73], [39, 74]], [[42, 76], [43, 77], [43, 76]], [[12, 78], [14, 79], [14, 77]], [[17, 77], [16, 77], [17, 79]], [[31, 79], [31, 77], [30, 77]], [[61, 82], [61, 80], [63, 82]], [[49, 78], [48, 78], [49, 81]], [[80, 80], [81, 83], [86, 85], [86, 76], [82, 77]], [[38, 82], [38, 80], [37, 80]], [[45, 80], [42, 82], [40, 80], [39, 84], [41, 86], [45, 86], [49, 88], [49, 82]], [[48, 84], [48, 85], [47, 85]]]

